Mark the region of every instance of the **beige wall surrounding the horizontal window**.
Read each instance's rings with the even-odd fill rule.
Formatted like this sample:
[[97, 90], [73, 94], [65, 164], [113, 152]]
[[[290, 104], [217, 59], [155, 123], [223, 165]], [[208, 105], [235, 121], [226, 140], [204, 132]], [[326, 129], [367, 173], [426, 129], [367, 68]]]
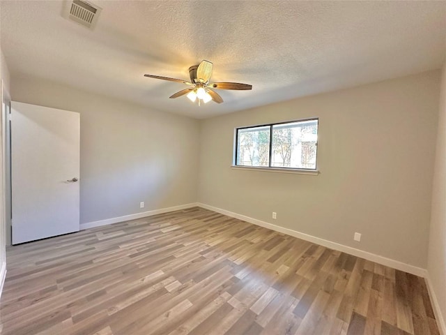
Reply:
[[[439, 82], [433, 71], [206, 119], [199, 202], [425, 268]], [[231, 169], [234, 128], [308, 117], [321, 174]]]

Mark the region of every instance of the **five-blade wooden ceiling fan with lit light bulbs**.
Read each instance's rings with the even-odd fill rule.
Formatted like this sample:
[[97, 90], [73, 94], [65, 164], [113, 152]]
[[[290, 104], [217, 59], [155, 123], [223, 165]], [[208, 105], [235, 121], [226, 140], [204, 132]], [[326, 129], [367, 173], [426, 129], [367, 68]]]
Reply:
[[171, 82], [182, 82], [190, 87], [176, 92], [176, 94], [171, 95], [169, 98], [174, 99], [178, 96], [184, 96], [187, 94], [187, 98], [190, 101], [195, 102], [198, 99], [200, 105], [201, 101], [203, 103], [208, 103], [213, 100], [216, 103], [222, 103], [223, 99], [217, 94], [213, 89], [236, 89], [245, 90], [252, 89], [252, 85], [240, 84], [238, 82], [209, 82], [210, 76], [212, 75], [213, 64], [210, 61], [201, 61], [199, 65], [194, 65], [189, 68], [190, 82], [187, 80], [180, 80], [169, 77], [161, 77], [160, 75], [144, 75], [144, 77], [169, 80]]

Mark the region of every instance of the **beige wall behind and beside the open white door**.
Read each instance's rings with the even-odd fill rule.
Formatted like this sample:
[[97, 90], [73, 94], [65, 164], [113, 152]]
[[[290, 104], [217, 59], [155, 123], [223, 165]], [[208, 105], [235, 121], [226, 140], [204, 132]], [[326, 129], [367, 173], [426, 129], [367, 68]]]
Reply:
[[11, 89], [14, 101], [80, 112], [81, 223], [197, 200], [199, 121], [33, 77]]

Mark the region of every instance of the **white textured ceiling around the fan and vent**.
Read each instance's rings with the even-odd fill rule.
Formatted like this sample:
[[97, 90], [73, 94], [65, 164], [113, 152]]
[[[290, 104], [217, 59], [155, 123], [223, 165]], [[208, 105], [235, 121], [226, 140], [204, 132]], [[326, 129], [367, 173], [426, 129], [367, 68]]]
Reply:
[[[93, 31], [63, 1], [1, 1], [11, 76], [44, 77], [157, 110], [205, 118], [440, 68], [445, 1], [91, 1]], [[252, 84], [192, 104], [176, 82], [212, 61], [212, 81]]]

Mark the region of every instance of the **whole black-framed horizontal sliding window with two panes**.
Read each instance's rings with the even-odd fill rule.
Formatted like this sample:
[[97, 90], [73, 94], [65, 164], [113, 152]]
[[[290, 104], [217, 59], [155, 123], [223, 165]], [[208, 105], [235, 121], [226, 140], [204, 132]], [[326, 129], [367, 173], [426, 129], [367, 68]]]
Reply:
[[316, 170], [318, 119], [236, 130], [236, 165]]

